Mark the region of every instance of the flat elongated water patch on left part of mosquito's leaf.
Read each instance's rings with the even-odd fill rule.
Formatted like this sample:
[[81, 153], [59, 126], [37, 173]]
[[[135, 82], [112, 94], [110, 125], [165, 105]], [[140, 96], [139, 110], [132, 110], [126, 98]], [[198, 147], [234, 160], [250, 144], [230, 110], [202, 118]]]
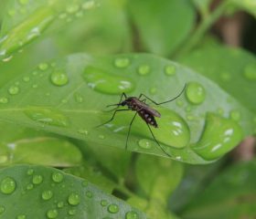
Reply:
[[69, 118], [58, 110], [31, 107], [24, 112], [31, 120], [58, 127], [69, 126]]

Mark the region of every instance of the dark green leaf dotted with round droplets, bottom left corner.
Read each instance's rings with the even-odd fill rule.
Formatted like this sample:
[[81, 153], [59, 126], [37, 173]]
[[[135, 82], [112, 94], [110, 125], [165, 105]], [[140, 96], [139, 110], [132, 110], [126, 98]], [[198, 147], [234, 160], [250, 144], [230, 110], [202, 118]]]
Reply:
[[29, 165], [0, 170], [0, 209], [3, 218], [146, 218], [83, 179]]

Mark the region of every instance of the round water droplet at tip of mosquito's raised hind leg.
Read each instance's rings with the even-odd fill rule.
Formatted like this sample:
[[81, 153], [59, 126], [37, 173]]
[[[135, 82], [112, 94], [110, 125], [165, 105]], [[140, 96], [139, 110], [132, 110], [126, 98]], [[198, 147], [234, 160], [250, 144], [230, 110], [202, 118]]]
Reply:
[[206, 99], [205, 89], [197, 82], [187, 84], [186, 95], [189, 102], [193, 104], [200, 104]]

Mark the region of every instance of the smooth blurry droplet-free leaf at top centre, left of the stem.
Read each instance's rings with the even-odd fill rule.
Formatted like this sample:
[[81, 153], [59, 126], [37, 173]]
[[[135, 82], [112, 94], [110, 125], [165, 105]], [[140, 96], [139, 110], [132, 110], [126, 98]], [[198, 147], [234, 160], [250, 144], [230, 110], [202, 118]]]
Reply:
[[128, 7], [146, 50], [163, 56], [175, 52], [195, 22], [195, 10], [184, 0], [133, 0]]

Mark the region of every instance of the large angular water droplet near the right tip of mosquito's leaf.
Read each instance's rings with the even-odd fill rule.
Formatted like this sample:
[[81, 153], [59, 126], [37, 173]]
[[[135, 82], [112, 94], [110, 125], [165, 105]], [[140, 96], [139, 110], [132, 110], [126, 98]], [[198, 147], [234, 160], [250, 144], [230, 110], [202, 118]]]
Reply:
[[193, 150], [206, 160], [215, 160], [233, 149], [241, 140], [242, 131], [234, 120], [208, 113], [205, 128]]

